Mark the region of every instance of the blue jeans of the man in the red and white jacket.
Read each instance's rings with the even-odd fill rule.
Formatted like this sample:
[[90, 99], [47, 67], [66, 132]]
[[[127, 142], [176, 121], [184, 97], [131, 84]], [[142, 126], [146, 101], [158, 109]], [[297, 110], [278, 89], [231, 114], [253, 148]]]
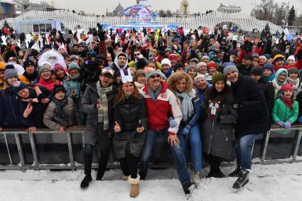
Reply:
[[[160, 135], [164, 135], [165, 138], [168, 138], [168, 129], [163, 129], [161, 131], [148, 130], [147, 132], [144, 150], [141, 154], [141, 170], [139, 171], [141, 179], [146, 178], [146, 175], [148, 173], [149, 159], [151, 158], [156, 138]], [[170, 148], [176, 164], [178, 178], [180, 180], [181, 185], [190, 182], [190, 175], [187, 170], [187, 163], [185, 162], [185, 154], [183, 153], [183, 149], [180, 147], [179, 143], [170, 146]]]

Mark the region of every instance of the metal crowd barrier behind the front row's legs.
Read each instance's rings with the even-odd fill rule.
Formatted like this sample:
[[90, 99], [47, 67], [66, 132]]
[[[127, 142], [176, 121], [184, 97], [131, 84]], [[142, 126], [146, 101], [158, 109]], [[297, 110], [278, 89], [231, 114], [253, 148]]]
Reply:
[[[83, 169], [84, 131], [84, 126], [72, 127], [63, 134], [49, 129], [38, 129], [34, 134], [28, 134], [26, 130], [4, 129], [0, 132], [0, 170]], [[274, 134], [274, 131], [284, 131], [284, 129], [280, 126], [272, 126], [271, 130], [263, 136], [263, 139], [256, 141], [253, 147], [253, 157], [260, 158], [261, 161], [258, 163], [262, 164], [295, 162], [298, 152], [300, 151], [302, 154], [302, 146], [300, 146], [302, 126], [293, 125], [291, 127], [291, 131], [294, 131], [293, 134], [281, 135], [281, 142], [288, 142], [284, 145], [286, 151], [281, 150], [279, 144], [276, 147], [271, 144], [274, 151], [280, 149], [282, 153], [287, 153], [286, 156], [280, 156], [277, 153], [273, 159], [270, 159], [271, 156], [268, 156], [267, 153], [270, 147], [269, 140], [277, 135]], [[50, 140], [47, 140], [48, 137]], [[290, 152], [288, 152], [290, 150], [288, 144], [292, 146]], [[48, 151], [46, 151], [47, 149]], [[154, 163], [151, 163], [150, 167], [171, 167], [173, 157], [168, 151], [166, 139], [162, 138], [161, 141], [158, 141], [154, 149], [156, 150], [156, 153], [153, 153]], [[188, 153], [190, 152], [188, 151]], [[288, 155], [289, 157], [292, 156], [290, 160], [285, 159], [288, 158]], [[98, 158], [97, 150], [95, 150], [94, 156]], [[234, 159], [234, 154], [232, 159]], [[115, 161], [117, 160], [111, 156], [108, 167], [117, 168], [118, 163]], [[97, 168], [97, 162], [92, 165], [92, 168]]]

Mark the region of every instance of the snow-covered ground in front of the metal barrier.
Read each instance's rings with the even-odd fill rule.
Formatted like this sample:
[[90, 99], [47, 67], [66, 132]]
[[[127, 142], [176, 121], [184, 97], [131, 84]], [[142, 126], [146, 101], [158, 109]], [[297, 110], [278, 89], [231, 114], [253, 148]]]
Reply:
[[[232, 170], [233, 167], [222, 168], [225, 174]], [[254, 165], [249, 184], [239, 192], [232, 192], [236, 178], [206, 179], [207, 172], [207, 168], [202, 171], [202, 183], [191, 200], [302, 201], [302, 162]], [[129, 183], [119, 180], [120, 174], [118, 169], [109, 170], [104, 181], [93, 180], [87, 190], [80, 190], [82, 170], [0, 171], [0, 200], [134, 200], [129, 197]], [[135, 200], [185, 200], [176, 170], [150, 170], [148, 180], [141, 181]]]

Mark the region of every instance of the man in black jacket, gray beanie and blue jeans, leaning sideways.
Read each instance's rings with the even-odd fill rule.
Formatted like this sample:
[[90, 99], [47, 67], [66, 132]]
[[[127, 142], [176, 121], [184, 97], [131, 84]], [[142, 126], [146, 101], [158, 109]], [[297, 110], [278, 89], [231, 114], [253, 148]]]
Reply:
[[269, 112], [264, 93], [252, 77], [239, 74], [235, 65], [227, 65], [223, 73], [231, 82], [234, 102], [232, 107], [238, 110], [236, 135], [236, 170], [230, 176], [239, 176], [234, 189], [242, 188], [249, 182], [252, 167], [252, 146], [254, 141], [269, 130]]

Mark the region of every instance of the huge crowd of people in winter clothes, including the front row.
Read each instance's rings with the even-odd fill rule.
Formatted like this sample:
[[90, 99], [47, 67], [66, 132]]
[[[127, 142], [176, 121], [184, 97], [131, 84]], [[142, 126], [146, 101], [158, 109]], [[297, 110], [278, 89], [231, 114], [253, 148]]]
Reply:
[[[220, 163], [236, 150], [233, 188], [249, 182], [252, 145], [271, 124], [302, 123], [301, 38], [251, 38], [207, 28], [184, 33], [142, 28], [81, 35], [53, 29], [26, 43], [3, 28], [0, 55], [0, 131], [49, 128], [64, 133], [85, 125], [85, 178], [92, 181], [97, 147], [102, 180], [109, 151], [119, 159], [130, 196], [139, 195], [158, 136], [171, 148], [186, 195], [207, 178], [222, 178]], [[190, 143], [190, 153], [187, 145]], [[190, 155], [193, 175], [188, 172]], [[138, 172], [138, 164], [140, 170]]]

